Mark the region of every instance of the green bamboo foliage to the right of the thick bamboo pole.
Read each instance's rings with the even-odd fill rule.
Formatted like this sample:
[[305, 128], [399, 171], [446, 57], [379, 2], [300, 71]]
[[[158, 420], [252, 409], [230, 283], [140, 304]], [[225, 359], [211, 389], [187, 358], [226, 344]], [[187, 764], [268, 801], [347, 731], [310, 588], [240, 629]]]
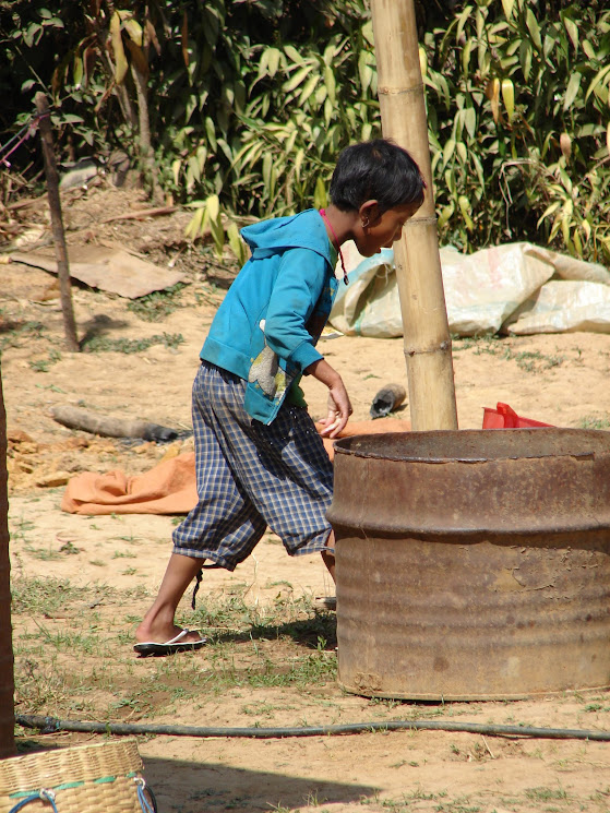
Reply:
[[466, 3], [424, 38], [445, 242], [548, 240], [610, 260], [610, 12]]

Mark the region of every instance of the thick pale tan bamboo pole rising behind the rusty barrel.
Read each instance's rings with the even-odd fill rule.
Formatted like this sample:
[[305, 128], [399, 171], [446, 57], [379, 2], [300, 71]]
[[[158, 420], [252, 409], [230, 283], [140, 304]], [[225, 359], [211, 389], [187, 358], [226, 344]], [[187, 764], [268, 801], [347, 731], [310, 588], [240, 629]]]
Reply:
[[371, 0], [371, 10], [383, 135], [409, 151], [428, 184], [422, 207], [394, 243], [411, 426], [457, 429], [414, 2]]

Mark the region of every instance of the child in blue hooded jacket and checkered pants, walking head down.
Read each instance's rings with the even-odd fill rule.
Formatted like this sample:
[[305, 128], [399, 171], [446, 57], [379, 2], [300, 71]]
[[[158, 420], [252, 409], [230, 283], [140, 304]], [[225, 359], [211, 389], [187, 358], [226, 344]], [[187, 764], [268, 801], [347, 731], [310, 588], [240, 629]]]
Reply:
[[336, 438], [351, 414], [340, 375], [315, 347], [338, 283], [342, 243], [371, 256], [400, 238], [426, 183], [410, 155], [378, 139], [344, 150], [331, 205], [242, 230], [252, 256], [229, 288], [201, 351], [193, 384], [199, 503], [174, 531], [174, 552], [157, 598], [135, 637], [141, 655], [204, 645], [175, 613], [193, 578], [235, 570], [268, 526], [290, 555], [320, 551], [334, 578], [326, 521], [333, 468], [310, 418], [299, 380], [328, 387], [323, 435]]

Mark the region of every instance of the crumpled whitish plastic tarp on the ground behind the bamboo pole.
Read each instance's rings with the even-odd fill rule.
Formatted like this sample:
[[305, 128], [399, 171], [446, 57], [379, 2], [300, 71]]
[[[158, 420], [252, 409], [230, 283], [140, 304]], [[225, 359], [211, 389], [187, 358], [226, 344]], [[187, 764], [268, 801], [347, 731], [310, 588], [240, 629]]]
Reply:
[[[610, 272], [602, 265], [529, 242], [474, 254], [442, 248], [440, 255], [450, 331], [455, 335], [610, 333]], [[352, 271], [349, 285], [339, 285], [331, 324], [348, 335], [402, 336], [392, 249], [362, 258], [348, 243], [344, 256]]]

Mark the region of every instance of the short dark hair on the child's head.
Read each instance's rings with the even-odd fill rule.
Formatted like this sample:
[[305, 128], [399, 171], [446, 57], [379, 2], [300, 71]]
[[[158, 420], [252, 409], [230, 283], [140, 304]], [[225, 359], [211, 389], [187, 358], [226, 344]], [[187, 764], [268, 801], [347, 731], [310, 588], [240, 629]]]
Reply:
[[380, 212], [421, 203], [426, 181], [406, 150], [388, 139], [352, 144], [339, 153], [331, 201], [343, 212], [378, 201]]

